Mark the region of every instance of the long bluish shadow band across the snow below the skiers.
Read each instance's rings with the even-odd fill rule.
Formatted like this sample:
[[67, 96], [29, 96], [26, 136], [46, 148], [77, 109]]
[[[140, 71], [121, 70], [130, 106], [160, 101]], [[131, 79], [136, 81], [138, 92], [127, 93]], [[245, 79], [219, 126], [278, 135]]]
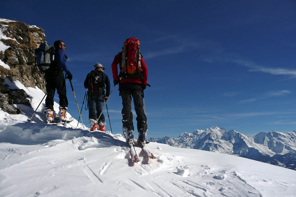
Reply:
[[52, 140], [72, 140], [79, 137], [97, 138], [102, 147], [125, 146], [126, 143], [111, 135], [96, 131], [72, 129], [45, 123], [22, 122], [0, 126], [0, 143], [35, 145]]

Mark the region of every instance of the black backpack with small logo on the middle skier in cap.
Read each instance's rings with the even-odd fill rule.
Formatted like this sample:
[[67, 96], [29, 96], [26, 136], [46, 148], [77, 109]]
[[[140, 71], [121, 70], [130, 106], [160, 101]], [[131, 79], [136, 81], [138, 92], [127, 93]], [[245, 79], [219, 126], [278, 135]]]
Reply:
[[94, 70], [88, 73], [88, 92], [92, 95], [103, 95], [105, 79], [102, 71]]

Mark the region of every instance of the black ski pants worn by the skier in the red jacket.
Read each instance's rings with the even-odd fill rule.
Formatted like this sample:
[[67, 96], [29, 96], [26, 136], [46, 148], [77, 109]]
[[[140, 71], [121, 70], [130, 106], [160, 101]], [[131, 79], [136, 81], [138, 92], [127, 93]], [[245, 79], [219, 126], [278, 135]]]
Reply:
[[137, 115], [138, 132], [147, 131], [147, 118], [143, 110], [142, 87], [140, 83], [124, 82], [119, 85], [122, 97], [122, 128], [133, 131], [133, 114], [131, 112], [131, 97], [133, 97]]

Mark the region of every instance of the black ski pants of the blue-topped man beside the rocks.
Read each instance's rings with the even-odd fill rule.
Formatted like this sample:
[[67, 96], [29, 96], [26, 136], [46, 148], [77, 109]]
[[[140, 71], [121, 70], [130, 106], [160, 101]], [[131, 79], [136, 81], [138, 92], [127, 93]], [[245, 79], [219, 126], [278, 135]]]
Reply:
[[62, 71], [45, 73], [45, 87], [47, 92], [45, 99], [45, 109], [54, 110], [55, 90], [57, 91], [60, 98], [60, 106], [63, 108], [68, 107], [66, 81]]

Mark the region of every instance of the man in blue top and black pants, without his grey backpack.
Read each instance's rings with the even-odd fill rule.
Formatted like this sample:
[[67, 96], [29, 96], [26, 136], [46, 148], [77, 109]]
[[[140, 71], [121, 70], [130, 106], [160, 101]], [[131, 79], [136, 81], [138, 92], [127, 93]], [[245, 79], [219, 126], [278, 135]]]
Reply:
[[57, 118], [62, 121], [66, 121], [66, 110], [68, 108], [68, 99], [66, 96], [66, 81], [64, 72], [66, 73], [66, 79], [72, 80], [72, 74], [67, 68], [65, 55], [66, 46], [63, 41], [57, 40], [54, 43], [55, 46], [55, 63], [51, 65], [51, 70], [45, 73], [45, 87], [47, 96], [45, 99], [45, 114], [47, 122], [53, 122], [53, 106], [55, 90], [60, 98], [60, 107]]

